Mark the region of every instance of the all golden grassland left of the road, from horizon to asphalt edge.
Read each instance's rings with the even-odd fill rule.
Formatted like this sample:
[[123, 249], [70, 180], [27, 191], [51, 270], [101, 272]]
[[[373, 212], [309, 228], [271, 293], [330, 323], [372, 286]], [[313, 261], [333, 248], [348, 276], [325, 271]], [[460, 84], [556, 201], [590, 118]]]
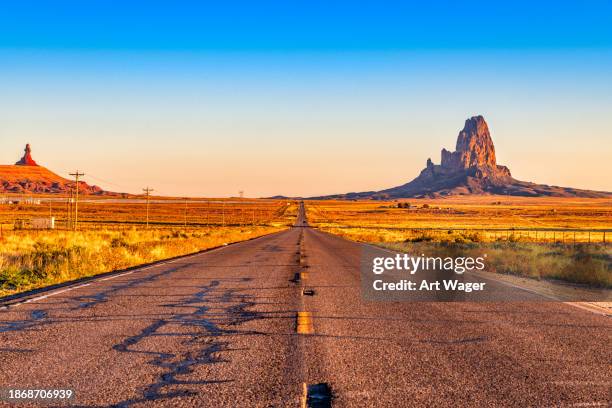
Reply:
[[[87, 197], [90, 199], [90, 197]], [[124, 269], [288, 228], [295, 202], [274, 200], [160, 200], [150, 205], [95, 199], [79, 205], [72, 231], [66, 203], [0, 205], [0, 296]], [[187, 207], [185, 209], [185, 207]], [[58, 217], [56, 230], [33, 230], [28, 220]], [[18, 220], [24, 220], [23, 229]], [[19, 225], [20, 228], [14, 228]]]

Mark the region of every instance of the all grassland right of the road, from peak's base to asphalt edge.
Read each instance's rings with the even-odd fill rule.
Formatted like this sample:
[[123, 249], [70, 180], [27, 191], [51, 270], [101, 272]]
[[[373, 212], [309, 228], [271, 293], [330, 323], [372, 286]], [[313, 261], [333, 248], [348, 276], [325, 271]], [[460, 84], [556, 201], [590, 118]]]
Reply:
[[612, 287], [612, 234], [601, 244], [602, 230], [612, 228], [612, 200], [484, 196], [398, 204], [320, 201], [306, 209], [312, 225], [353, 241], [427, 256], [487, 253], [491, 272]]

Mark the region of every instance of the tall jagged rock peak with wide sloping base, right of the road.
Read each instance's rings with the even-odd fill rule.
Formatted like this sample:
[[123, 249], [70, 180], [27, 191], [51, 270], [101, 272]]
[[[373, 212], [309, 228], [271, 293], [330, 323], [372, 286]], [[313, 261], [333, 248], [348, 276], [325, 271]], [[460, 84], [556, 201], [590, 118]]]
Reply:
[[442, 149], [441, 163], [427, 159], [425, 168], [414, 180], [399, 187], [382, 191], [337, 194], [315, 198], [393, 199], [412, 197], [443, 197], [469, 194], [503, 194], [531, 197], [592, 197], [609, 198], [612, 193], [548, 186], [512, 177], [506, 166], [497, 164], [495, 147], [487, 122], [482, 116], [465, 121], [459, 132], [455, 151]]

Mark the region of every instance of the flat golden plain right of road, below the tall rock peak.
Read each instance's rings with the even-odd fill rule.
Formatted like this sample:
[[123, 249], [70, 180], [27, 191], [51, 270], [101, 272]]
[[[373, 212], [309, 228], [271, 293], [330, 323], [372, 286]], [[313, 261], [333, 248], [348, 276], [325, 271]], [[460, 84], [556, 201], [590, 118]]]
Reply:
[[[573, 242], [574, 231], [563, 230], [578, 229], [583, 232], [575, 233], [576, 242], [601, 242], [602, 231], [612, 228], [611, 199], [457, 196], [403, 203], [412, 208], [397, 208], [398, 202], [319, 201], [308, 202], [307, 209], [311, 224], [336, 232], [350, 227], [350, 234], [363, 234], [364, 240], [375, 236], [381, 241], [398, 241], [419, 235], [448, 240], [449, 235], [454, 239], [476, 234], [481, 241]], [[509, 229], [516, 231], [495, 231]], [[612, 240], [612, 233], [606, 238]]]

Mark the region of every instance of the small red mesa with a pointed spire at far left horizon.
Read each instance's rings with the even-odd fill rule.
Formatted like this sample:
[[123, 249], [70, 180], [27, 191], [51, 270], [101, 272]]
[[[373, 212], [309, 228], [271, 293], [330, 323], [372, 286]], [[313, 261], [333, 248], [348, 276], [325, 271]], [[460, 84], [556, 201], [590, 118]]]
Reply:
[[[21, 160], [14, 165], [0, 165], [0, 193], [69, 193], [74, 190], [74, 181], [65, 179], [47, 168], [40, 166], [32, 158], [29, 144]], [[96, 195], [115, 195], [98, 186], [79, 181], [79, 193]]]

